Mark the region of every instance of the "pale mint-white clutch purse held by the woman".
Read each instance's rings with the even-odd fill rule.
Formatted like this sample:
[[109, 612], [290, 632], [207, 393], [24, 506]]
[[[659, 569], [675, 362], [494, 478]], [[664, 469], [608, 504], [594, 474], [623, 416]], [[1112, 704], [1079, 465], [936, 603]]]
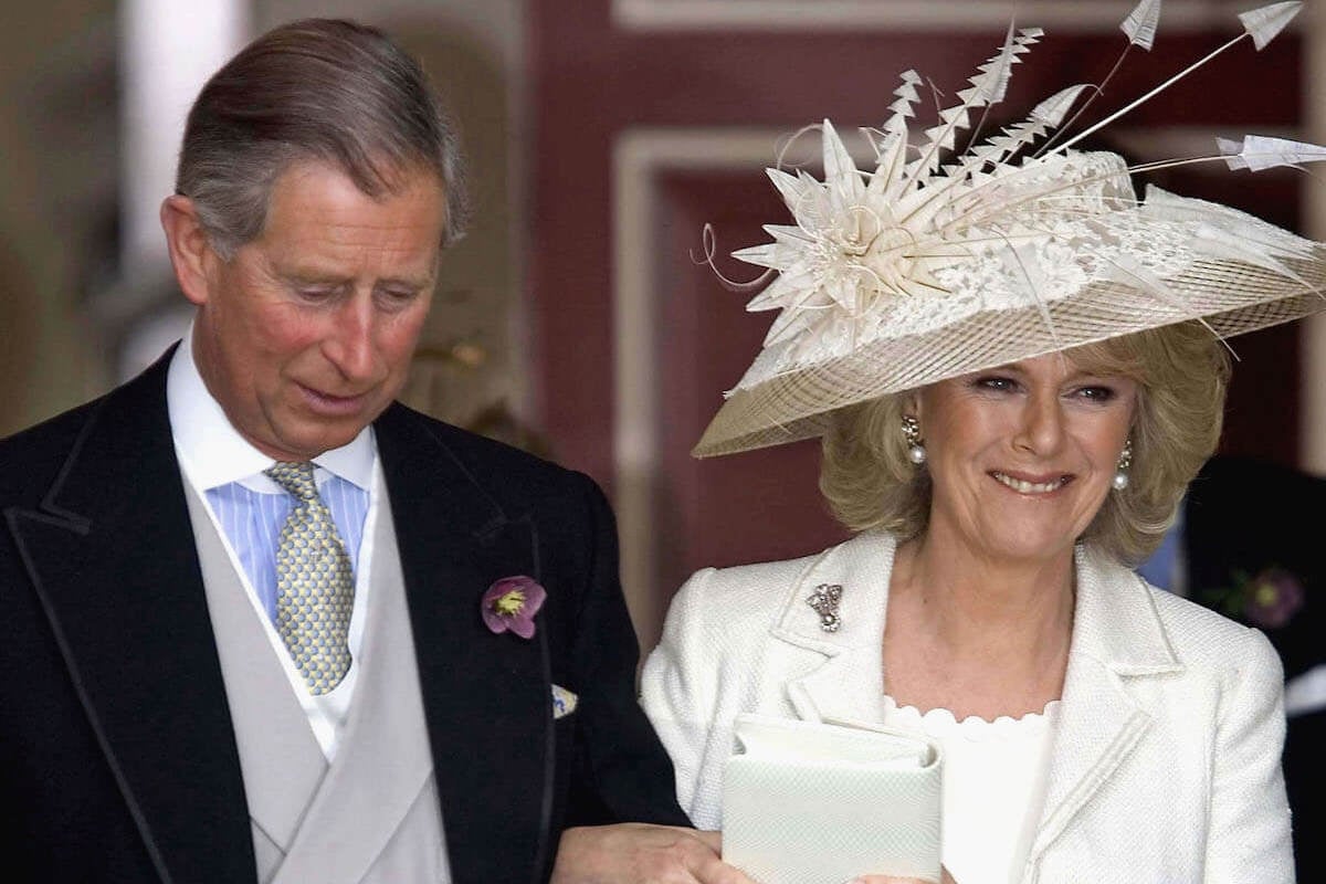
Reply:
[[943, 754], [857, 722], [741, 716], [723, 774], [723, 860], [758, 884], [898, 875], [937, 884]]

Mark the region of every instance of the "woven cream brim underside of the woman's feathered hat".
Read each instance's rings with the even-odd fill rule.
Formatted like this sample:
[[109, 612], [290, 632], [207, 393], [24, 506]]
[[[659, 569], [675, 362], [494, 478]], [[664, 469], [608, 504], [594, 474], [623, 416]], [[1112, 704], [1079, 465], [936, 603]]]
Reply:
[[1093, 282], [1041, 307], [985, 310], [931, 333], [879, 339], [735, 391], [691, 453], [715, 457], [812, 439], [847, 406], [1147, 329], [1204, 319], [1229, 338], [1326, 309], [1326, 248], [1284, 265], [1298, 278], [1241, 261], [1197, 261], [1166, 280], [1176, 300]]

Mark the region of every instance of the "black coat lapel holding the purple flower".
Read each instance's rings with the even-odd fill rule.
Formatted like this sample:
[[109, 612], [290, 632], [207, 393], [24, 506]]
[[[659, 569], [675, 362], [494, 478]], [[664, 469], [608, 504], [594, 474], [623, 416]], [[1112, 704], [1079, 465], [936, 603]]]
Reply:
[[548, 631], [493, 635], [479, 606], [499, 578], [545, 579], [536, 529], [526, 513], [504, 513], [419, 416], [394, 406], [375, 428], [452, 879], [530, 880], [554, 847]]

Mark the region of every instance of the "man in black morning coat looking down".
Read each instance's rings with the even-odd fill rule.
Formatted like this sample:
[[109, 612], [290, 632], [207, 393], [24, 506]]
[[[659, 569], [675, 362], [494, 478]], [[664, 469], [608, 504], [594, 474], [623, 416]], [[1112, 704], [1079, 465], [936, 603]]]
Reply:
[[5, 880], [745, 881], [680, 828], [602, 494], [394, 403], [463, 205], [374, 29], [203, 89], [191, 334], [0, 443]]

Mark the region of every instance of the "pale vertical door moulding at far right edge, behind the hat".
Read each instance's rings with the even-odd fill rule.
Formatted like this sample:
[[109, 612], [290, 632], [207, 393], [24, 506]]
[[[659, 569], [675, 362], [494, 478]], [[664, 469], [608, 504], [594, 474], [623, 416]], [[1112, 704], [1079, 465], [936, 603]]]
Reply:
[[[1303, 9], [1303, 127], [1307, 140], [1326, 143], [1326, 4]], [[1326, 187], [1303, 176], [1303, 225], [1314, 240], [1326, 240]], [[1302, 399], [1299, 414], [1305, 470], [1326, 476], [1326, 314], [1302, 323]]]

